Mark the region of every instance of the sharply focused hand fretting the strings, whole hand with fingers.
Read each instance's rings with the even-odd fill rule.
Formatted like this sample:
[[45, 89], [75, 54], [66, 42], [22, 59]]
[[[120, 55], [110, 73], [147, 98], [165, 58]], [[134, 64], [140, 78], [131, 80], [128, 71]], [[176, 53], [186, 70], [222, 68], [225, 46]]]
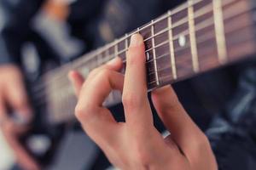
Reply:
[[[217, 163], [204, 133], [190, 119], [177, 95], [166, 86], [152, 92], [154, 107], [171, 133], [166, 139], [154, 127], [148, 102], [143, 37], [131, 37], [125, 76], [122, 61], [113, 59], [84, 78], [71, 71], [79, 98], [75, 115], [85, 133], [120, 169], [217, 170]], [[125, 122], [116, 122], [102, 106], [113, 90], [122, 92]]]

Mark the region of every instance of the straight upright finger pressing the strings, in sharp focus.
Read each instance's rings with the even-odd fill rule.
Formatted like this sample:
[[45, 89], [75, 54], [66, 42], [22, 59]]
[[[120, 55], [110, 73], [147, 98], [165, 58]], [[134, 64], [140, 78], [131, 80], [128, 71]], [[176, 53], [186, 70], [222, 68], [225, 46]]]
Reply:
[[143, 37], [135, 34], [126, 54], [125, 82], [123, 105], [125, 121], [134, 127], [136, 132], [148, 131], [153, 127], [153, 116], [148, 102], [146, 82], [146, 57]]

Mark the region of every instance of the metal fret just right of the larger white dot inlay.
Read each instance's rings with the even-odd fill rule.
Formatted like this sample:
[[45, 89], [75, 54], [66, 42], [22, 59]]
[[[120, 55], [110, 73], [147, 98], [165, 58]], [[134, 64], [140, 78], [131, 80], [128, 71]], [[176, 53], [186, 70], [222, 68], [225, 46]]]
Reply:
[[198, 62], [198, 53], [197, 53], [197, 45], [196, 45], [196, 38], [195, 38], [195, 20], [194, 20], [194, 7], [193, 1], [188, 1], [189, 8], [189, 37], [190, 37], [190, 51], [192, 55], [192, 65], [195, 72], [199, 71], [199, 62]]

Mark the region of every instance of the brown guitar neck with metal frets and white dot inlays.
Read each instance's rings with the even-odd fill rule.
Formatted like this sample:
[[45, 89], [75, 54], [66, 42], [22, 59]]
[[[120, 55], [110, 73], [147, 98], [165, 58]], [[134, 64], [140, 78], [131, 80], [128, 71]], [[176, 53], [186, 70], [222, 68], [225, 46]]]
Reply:
[[[144, 38], [148, 91], [255, 54], [254, 7], [253, 0], [189, 0], [136, 31], [49, 72], [43, 78], [49, 121], [74, 119], [76, 99], [67, 72], [75, 69], [87, 77], [114, 57], [125, 63], [135, 33]], [[105, 105], [119, 101], [120, 94], [114, 92]]]

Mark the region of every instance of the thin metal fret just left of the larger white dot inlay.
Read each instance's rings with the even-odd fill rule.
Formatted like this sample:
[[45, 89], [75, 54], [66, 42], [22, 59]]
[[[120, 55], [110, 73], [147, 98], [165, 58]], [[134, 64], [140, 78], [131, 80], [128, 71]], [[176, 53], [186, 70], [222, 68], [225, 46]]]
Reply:
[[168, 37], [169, 37], [169, 50], [170, 50], [170, 57], [171, 57], [171, 65], [172, 65], [172, 76], [174, 79], [177, 79], [177, 68], [175, 63], [175, 54], [174, 54], [174, 45], [173, 45], [173, 39], [172, 39], [172, 17], [171, 17], [171, 11], [168, 11], [168, 14], [170, 15], [168, 17]]

